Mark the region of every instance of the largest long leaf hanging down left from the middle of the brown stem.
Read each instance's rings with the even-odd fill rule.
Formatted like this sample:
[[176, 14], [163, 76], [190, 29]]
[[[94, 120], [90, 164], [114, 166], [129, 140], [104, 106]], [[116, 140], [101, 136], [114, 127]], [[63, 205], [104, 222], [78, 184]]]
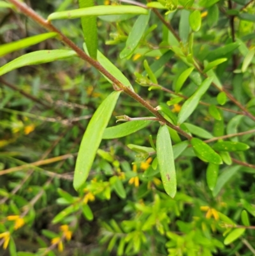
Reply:
[[119, 94], [120, 91], [114, 91], [110, 94], [98, 107], [87, 126], [75, 165], [73, 186], [76, 190], [85, 183], [89, 175], [103, 132], [112, 116]]

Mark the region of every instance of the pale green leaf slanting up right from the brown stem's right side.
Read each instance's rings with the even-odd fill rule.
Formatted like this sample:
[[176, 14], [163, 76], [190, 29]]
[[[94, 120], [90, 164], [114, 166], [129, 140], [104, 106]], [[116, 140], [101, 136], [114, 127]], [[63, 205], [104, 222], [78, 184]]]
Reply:
[[182, 105], [182, 109], [179, 112], [177, 123], [182, 124], [186, 119], [193, 113], [193, 111], [196, 109], [196, 106], [200, 102], [201, 97], [207, 89], [209, 88], [213, 78], [208, 77], [205, 79], [201, 86], [198, 87], [196, 92]]

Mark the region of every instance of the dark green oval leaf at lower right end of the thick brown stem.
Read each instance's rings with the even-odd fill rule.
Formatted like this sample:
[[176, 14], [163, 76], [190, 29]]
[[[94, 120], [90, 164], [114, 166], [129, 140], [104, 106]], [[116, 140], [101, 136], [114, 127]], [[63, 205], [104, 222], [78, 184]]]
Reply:
[[209, 163], [214, 163], [215, 165], [221, 165], [222, 159], [219, 154], [217, 154], [212, 147], [203, 142], [200, 139], [193, 138], [191, 139], [191, 145], [198, 156]]

